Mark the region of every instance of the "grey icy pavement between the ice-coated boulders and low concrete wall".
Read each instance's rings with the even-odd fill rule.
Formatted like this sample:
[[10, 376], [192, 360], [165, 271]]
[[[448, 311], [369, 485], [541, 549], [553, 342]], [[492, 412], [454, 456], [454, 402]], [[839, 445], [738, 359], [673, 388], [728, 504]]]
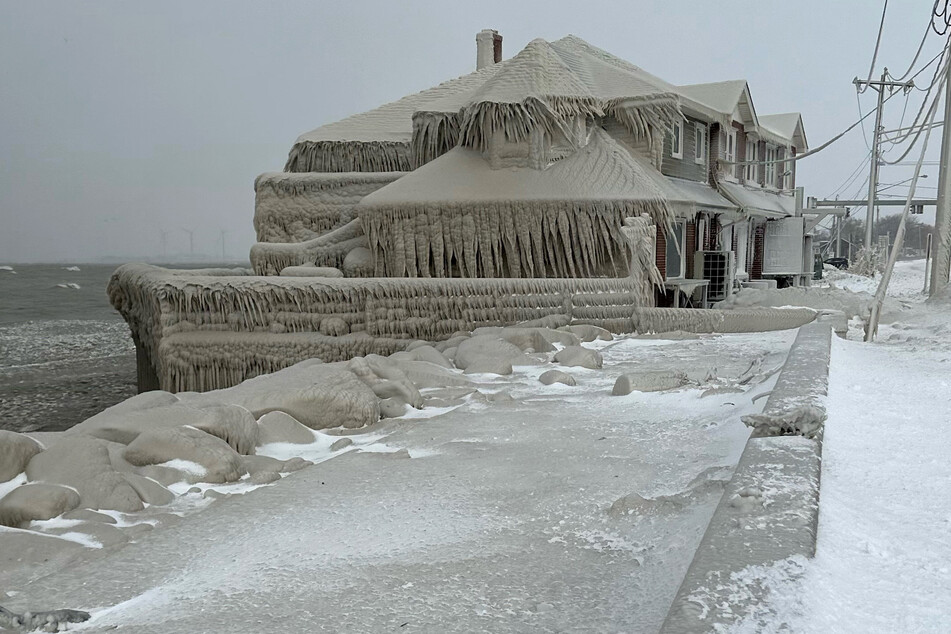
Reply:
[[[85, 609], [85, 631], [657, 631], [794, 336], [600, 342], [577, 387], [482, 376], [491, 398], [385, 421], [377, 451], [89, 551], [5, 607]], [[610, 396], [645, 368], [701, 385]]]

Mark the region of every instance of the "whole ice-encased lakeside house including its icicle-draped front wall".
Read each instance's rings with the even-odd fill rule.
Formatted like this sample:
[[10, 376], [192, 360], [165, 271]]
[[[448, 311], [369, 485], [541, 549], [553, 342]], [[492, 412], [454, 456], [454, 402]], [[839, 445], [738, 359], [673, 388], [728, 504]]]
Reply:
[[734, 164], [805, 149], [798, 115], [758, 118], [746, 82], [674, 86], [571, 35], [508, 60], [497, 33], [477, 42], [475, 72], [303, 134], [256, 180], [253, 275], [117, 271], [140, 388], [524, 320], [630, 329], [636, 307], [764, 274], [795, 173]]

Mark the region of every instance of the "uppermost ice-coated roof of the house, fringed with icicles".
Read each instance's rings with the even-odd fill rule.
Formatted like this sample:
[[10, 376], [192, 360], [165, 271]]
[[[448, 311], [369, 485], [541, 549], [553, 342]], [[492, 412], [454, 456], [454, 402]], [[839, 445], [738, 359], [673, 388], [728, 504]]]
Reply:
[[456, 139], [479, 145], [482, 127], [504, 119], [509, 135], [525, 127], [513, 119], [550, 113], [610, 113], [644, 134], [679, 116], [677, 102], [672, 85], [577, 36], [536, 39], [509, 60], [301, 135], [285, 169], [410, 170]]

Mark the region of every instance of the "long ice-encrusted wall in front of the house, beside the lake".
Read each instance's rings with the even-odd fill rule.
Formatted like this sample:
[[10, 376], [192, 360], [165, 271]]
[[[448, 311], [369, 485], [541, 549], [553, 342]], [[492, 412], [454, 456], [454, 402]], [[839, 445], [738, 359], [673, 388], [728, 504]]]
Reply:
[[[229, 274], [230, 273], [230, 274]], [[206, 390], [302, 358], [389, 354], [483, 326], [560, 318], [615, 333], [796, 327], [808, 309], [735, 311], [640, 305], [629, 278], [297, 278], [120, 267], [113, 306], [132, 330], [142, 389]], [[239, 272], [240, 273], [240, 272]]]

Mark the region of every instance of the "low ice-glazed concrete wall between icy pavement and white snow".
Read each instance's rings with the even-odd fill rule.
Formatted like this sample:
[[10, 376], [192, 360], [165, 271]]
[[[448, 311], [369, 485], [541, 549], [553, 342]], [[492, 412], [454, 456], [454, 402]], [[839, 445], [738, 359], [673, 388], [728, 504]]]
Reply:
[[[832, 325], [800, 328], [764, 416], [824, 417]], [[751, 437], [661, 628], [720, 631], [757, 612], [763, 589], [751, 570], [815, 554], [821, 428], [814, 437]], [[747, 580], [752, 579], [751, 583]]]

